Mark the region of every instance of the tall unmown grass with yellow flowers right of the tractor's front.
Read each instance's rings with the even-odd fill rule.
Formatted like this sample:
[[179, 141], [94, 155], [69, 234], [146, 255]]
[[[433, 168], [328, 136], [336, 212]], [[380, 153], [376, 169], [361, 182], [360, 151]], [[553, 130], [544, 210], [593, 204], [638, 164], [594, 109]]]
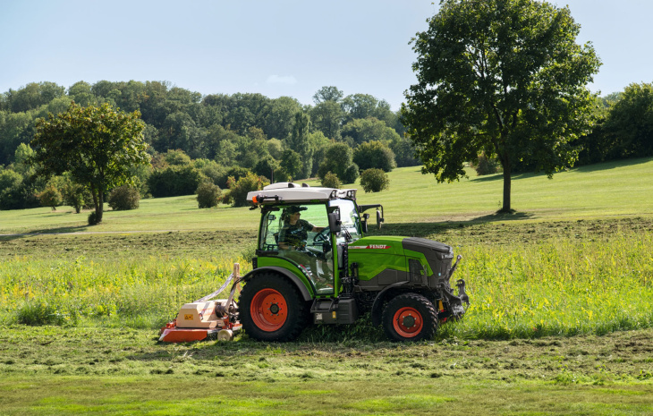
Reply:
[[577, 335], [653, 326], [653, 235], [462, 248], [471, 307], [445, 336]]

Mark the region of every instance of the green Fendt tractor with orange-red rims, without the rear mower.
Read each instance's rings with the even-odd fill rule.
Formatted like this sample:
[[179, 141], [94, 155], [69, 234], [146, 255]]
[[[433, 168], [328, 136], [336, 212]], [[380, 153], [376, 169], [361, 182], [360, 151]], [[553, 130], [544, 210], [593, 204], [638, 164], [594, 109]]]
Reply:
[[469, 298], [465, 282], [449, 284], [450, 246], [422, 238], [365, 236], [369, 214], [356, 190], [274, 183], [250, 192], [260, 208], [253, 270], [244, 282], [238, 315], [250, 337], [290, 341], [314, 324], [352, 324], [369, 311], [388, 338], [432, 338], [440, 323], [460, 319]]

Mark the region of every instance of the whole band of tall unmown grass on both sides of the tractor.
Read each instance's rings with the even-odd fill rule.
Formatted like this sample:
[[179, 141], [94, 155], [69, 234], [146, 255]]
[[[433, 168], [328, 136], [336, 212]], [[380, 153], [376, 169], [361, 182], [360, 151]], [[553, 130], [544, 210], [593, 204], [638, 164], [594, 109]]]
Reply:
[[[627, 231], [600, 240], [479, 244], [456, 248], [456, 277], [471, 306], [440, 336], [530, 338], [606, 334], [652, 327], [653, 235]], [[179, 307], [213, 292], [246, 259], [92, 259], [0, 261], [0, 318], [5, 322], [157, 327]], [[368, 322], [348, 330], [367, 336]], [[322, 333], [311, 337], [331, 339]]]

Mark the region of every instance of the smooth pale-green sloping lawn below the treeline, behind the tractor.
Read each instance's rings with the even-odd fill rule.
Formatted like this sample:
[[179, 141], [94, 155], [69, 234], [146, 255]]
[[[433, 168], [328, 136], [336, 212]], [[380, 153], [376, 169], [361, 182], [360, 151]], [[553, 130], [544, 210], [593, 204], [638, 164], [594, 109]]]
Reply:
[[[460, 182], [436, 183], [432, 175], [420, 174], [419, 167], [395, 169], [389, 174], [389, 191], [360, 190], [359, 201], [383, 204], [389, 224], [509, 219], [495, 216], [501, 208], [501, 174], [477, 177], [471, 169], [468, 173], [470, 178]], [[519, 174], [513, 177], [513, 208], [518, 215], [510, 218], [552, 221], [651, 216], [651, 174], [650, 158], [584, 166], [555, 174], [553, 179]], [[135, 211], [108, 210], [104, 223], [93, 227], [86, 225], [87, 216], [66, 207], [0, 211], [0, 233], [251, 230], [259, 218], [258, 212], [249, 208], [223, 205], [199, 209], [194, 196], [141, 200]]]

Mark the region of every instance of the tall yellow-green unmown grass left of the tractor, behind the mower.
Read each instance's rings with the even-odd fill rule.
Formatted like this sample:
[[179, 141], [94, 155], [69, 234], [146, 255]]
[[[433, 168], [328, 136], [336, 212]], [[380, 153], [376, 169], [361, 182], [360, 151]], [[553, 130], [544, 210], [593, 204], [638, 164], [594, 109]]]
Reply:
[[[0, 261], [0, 319], [28, 325], [157, 327], [183, 303], [212, 293], [246, 259], [133, 259], [99, 263]], [[225, 295], [226, 296], [226, 295]]]

